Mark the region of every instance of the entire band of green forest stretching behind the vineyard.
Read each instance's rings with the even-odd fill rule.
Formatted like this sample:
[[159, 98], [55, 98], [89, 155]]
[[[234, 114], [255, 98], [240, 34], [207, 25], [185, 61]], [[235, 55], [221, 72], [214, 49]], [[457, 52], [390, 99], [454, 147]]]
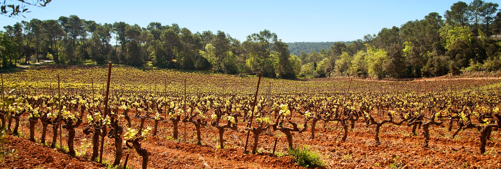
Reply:
[[348, 44], [334, 42], [327, 50], [299, 53], [296, 43], [288, 45], [268, 29], [240, 41], [224, 31], [192, 32], [176, 23], [141, 27], [77, 15], [34, 18], [4, 26], [0, 61], [3, 69], [53, 59], [57, 64], [113, 61], [228, 74], [263, 70], [266, 77], [289, 79], [431, 77], [499, 70], [501, 43], [493, 35], [501, 34], [500, 16], [497, 3], [458, 1], [443, 16], [431, 12]]

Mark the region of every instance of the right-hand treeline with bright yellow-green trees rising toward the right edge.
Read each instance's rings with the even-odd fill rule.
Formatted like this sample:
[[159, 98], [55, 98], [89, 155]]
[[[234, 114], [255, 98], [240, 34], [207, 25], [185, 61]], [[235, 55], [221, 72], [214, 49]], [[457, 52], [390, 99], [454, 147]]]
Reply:
[[501, 42], [493, 36], [501, 34], [497, 7], [458, 1], [444, 18], [431, 12], [348, 45], [335, 42], [327, 51], [302, 51], [300, 75], [411, 78], [499, 70]]

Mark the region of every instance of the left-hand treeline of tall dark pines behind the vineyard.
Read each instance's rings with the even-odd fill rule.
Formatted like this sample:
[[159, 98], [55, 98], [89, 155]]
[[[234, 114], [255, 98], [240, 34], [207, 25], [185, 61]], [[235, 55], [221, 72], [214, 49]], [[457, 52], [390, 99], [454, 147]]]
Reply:
[[[3, 67], [40, 58], [58, 64], [113, 61], [142, 66], [210, 70], [229, 74], [263, 70], [264, 76], [295, 78], [300, 62], [277, 34], [263, 30], [240, 42], [223, 31], [192, 33], [177, 24], [151, 22], [146, 27], [125, 22], [96, 23], [76, 15], [58, 20], [32, 19], [5, 26]], [[115, 44], [110, 44], [115, 37]], [[294, 68], [298, 67], [298, 68]]]

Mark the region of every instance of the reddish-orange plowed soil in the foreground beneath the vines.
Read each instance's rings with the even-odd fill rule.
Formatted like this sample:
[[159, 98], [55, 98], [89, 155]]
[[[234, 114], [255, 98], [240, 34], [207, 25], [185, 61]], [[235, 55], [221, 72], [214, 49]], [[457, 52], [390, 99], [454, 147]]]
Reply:
[[[120, 121], [124, 128], [126, 121]], [[31, 142], [28, 121], [22, 120], [21, 137], [9, 136], [4, 146], [17, 149], [17, 156], [3, 157], [0, 168], [99, 168], [103, 165], [90, 161], [92, 147], [89, 144], [92, 134], [85, 135], [82, 130], [86, 123], [81, 124], [75, 138], [76, 157], [70, 157], [59, 149], [41, 145], [40, 132], [42, 125], [36, 127], [37, 142]], [[133, 127], [138, 127], [139, 120], [133, 119]], [[159, 122], [157, 136], [149, 136], [141, 141], [142, 147], [149, 152], [148, 168], [304, 168], [296, 165], [294, 158], [287, 154], [287, 140], [280, 131], [264, 131], [260, 135], [257, 154], [243, 153], [246, 130], [244, 123], [238, 124], [238, 129], [224, 132], [225, 148], [216, 147], [218, 132], [215, 127], [202, 128], [202, 144], [196, 145], [194, 125], [186, 123], [186, 141], [183, 141], [184, 124], [179, 123], [179, 139], [172, 139], [172, 123]], [[153, 128], [154, 121], [146, 120], [145, 127]], [[412, 135], [411, 127], [385, 124], [380, 131], [382, 144], [374, 141], [375, 126], [366, 127], [356, 124], [349, 130], [348, 138], [342, 141], [342, 127], [336, 123], [317, 123], [316, 138], [311, 139], [311, 130], [303, 133], [295, 132], [294, 146], [309, 145], [325, 158], [327, 168], [501, 168], [501, 134], [499, 130], [492, 131], [487, 141], [487, 152], [479, 151], [479, 132], [476, 129], [460, 131], [451, 138], [452, 131], [446, 126], [430, 127], [429, 148], [423, 148], [422, 129]], [[66, 146], [68, 132], [63, 129], [63, 146]], [[277, 153], [273, 155], [275, 137], [278, 137]], [[49, 125], [46, 135], [47, 142], [52, 140], [52, 127]], [[58, 137], [59, 138], [59, 137]], [[252, 133], [250, 134], [252, 138]], [[248, 147], [253, 141], [249, 138]], [[125, 145], [123, 145], [125, 146]], [[114, 140], [106, 137], [104, 143], [103, 163], [112, 163], [115, 157]], [[85, 153], [84, 153], [85, 152]], [[129, 153], [128, 167], [141, 168], [142, 158], [133, 149], [124, 149], [121, 165], [125, 154]]]

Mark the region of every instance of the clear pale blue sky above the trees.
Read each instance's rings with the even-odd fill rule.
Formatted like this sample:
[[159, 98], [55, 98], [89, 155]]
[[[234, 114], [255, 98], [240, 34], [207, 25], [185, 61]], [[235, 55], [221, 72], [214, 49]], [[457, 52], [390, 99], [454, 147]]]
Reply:
[[192, 32], [222, 30], [241, 41], [263, 29], [277, 33], [285, 42], [339, 41], [422, 19], [430, 12], [443, 15], [454, 2], [457, 0], [53, 0], [47, 7], [31, 8], [26, 19], [2, 16], [0, 26], [75, 14], [98, 23], [124, 21], [145, 27], [157, 21], [177, 23]]

